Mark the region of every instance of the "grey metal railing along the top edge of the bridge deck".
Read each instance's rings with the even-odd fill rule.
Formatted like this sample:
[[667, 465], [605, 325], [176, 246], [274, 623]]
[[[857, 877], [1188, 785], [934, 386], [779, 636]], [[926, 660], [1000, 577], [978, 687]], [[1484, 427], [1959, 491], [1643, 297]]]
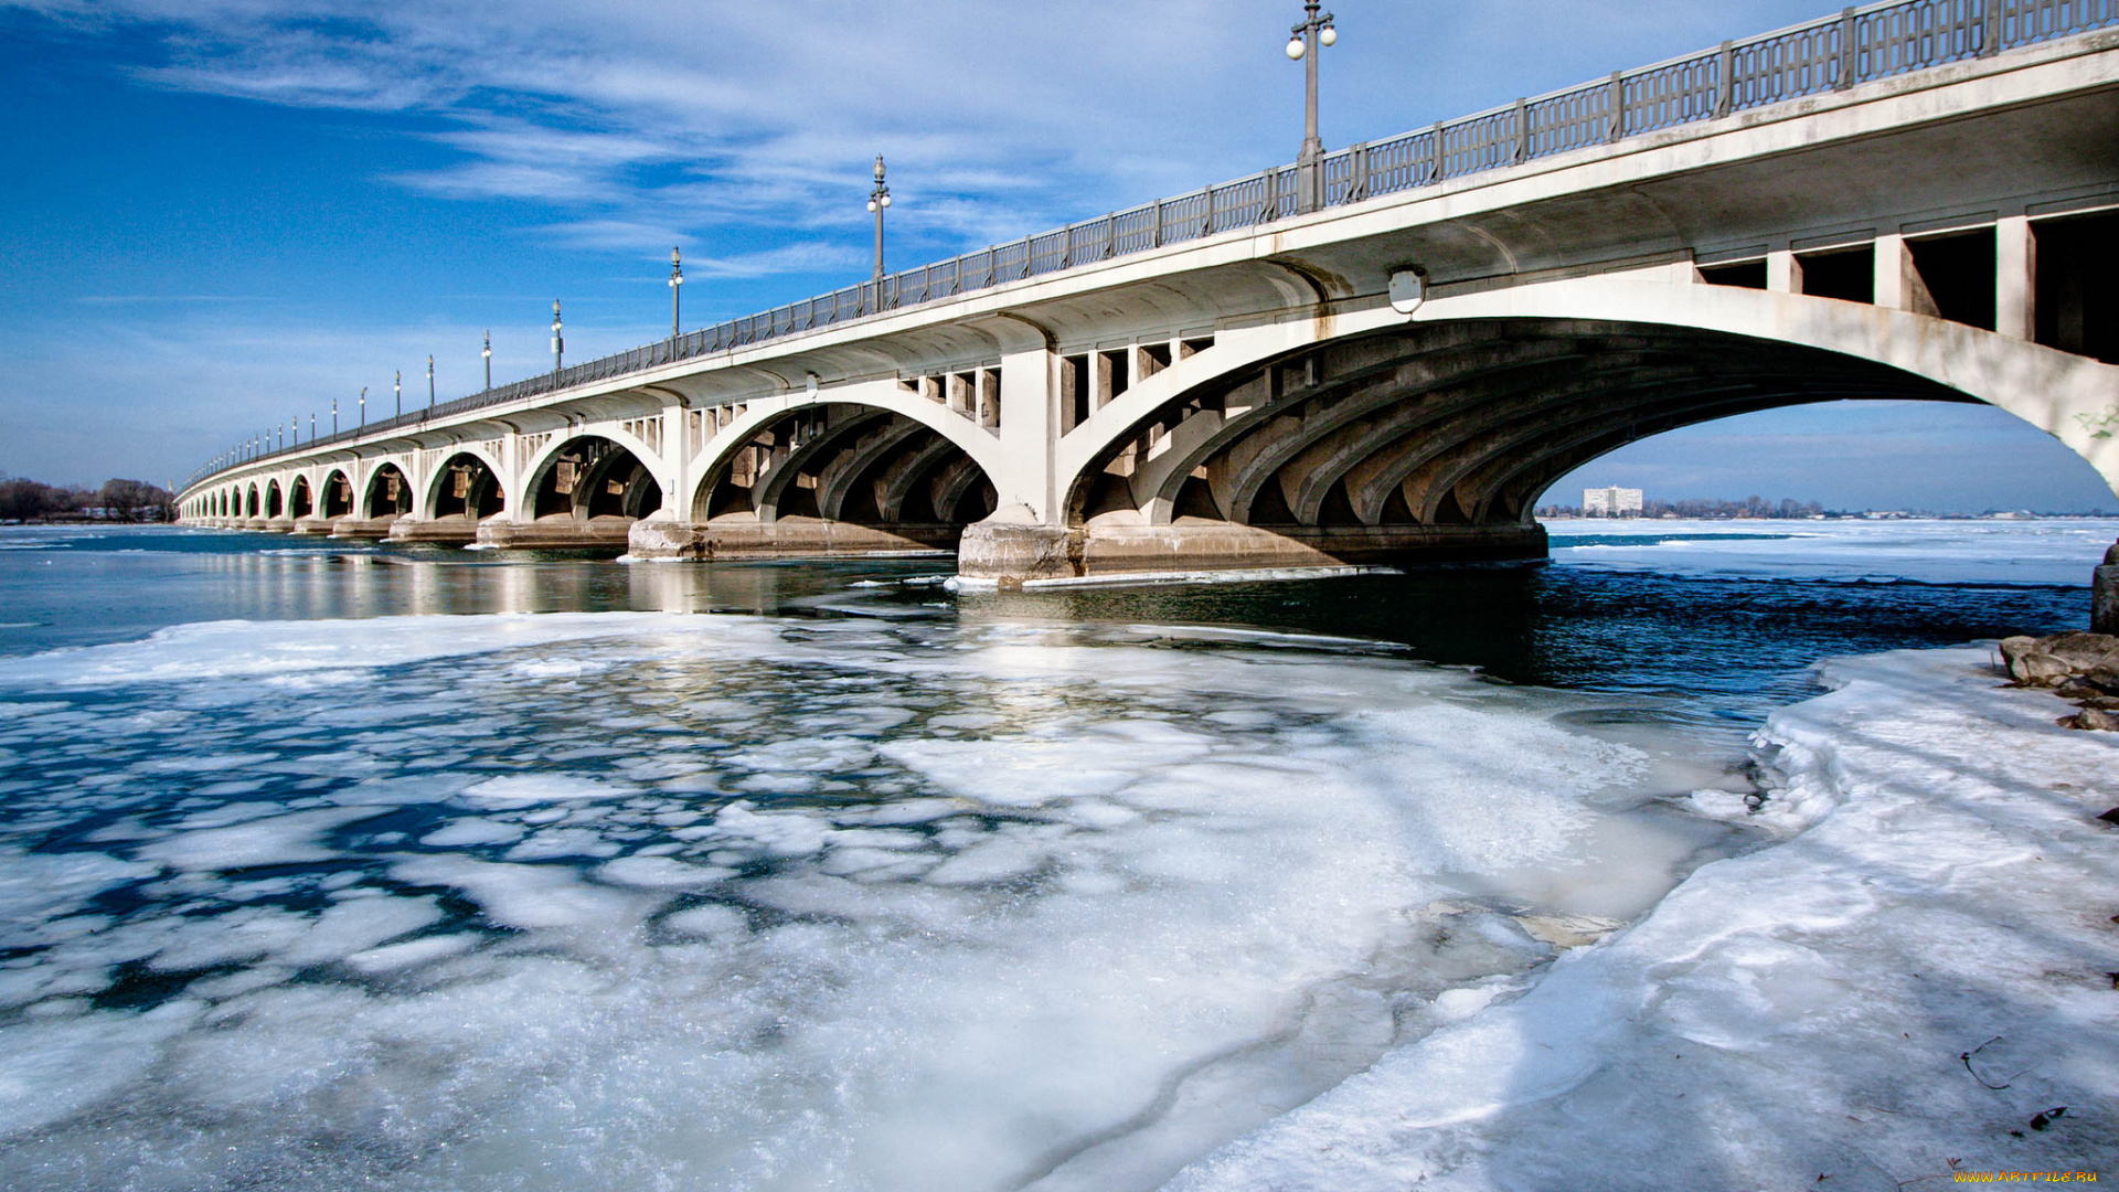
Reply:
[[[1719, 49], [1638, 70], [1619, 70], [1608, 78], [1566, 91], [1517, 100], [1504, 108], [1443, 121], [1392, 140], [1329, 153], [1322, 161], [1322, 197], [1326, 206], [1337, 206], [1432, 187], [1447, 178], [1519, 165], [1538, 157], [1803, 95], [1844, 91], [1856, 83], [1988, 57], [2005, 49], [2113, 23], [2119, 23], [2119, 0], [1899, 0], [1848, 8], [1822, 21], [1750, 40], [1723, 42]], [[905, 269], [882, 282], [862, 282], [430, 409], [369, 422], [356, 431], [261, 452], [233, 464], [206, 467], [184, 481], [184, 490], [214, 471], [305, 454], [384, 431], [422, 426], [487, 405], [712, 356], [782, 335], [854, 322], [1163, 244], [1257, 227], [1297, 214], [1297, 168], [1276, 165], [1174, 199], [1040, 231], [951, 261]]]

